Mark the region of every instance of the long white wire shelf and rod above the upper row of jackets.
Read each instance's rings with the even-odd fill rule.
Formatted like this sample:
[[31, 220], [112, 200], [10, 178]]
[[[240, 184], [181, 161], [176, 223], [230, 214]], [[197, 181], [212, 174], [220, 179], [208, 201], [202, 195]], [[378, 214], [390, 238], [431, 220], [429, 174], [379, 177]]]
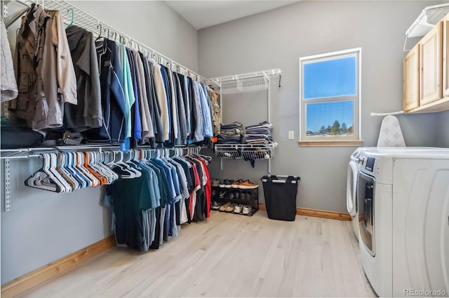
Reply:
[[[84, 10], [74, 6], [72, 3], [68, 3], [67, 1], [42, 1], [41, 3], [41, 1], [36, 2], [32, 0], [18, 0], [18, 2], [25, 4], [27, 6], [31, 6], [33, 3], [42, 4], [43, 8], [45, 9], [60, 10], [63, 19], [66, 20], [72, 19], [72, 11], [73, 11], [74, 24], [78, 25], [79, 27], [83, 27], [88, 31], [91, 31], [94, 34], [94, 36], [98, 36], [98, 31], [101, 28], [102, 30], [101, 34], [103, 37], [108, 37], [109, 39], [112, 39], [116, 42], [121, 42], [123, 38], [124, 44], [126, 44], [127, 46], [129, 44], [135, 45], [135, 50], [140, 50], [144, 54], [151, 55], [152, 58], [156, 59], [156, 62], [158, 62], [159, 64], [163, 64], [163, 66], [169, 67], [171, 71], [176, 71], [178, 73], [181, 73], [182, 75], [189, 76], [190, 78], [202, 81], [207, 85], [211, 84], [210, 80], [204, 78], [203, 76], [200, 76], [195, 71], [192, 71], [188, 69], [186, 66], [175, 62], [173, 59], [170, 59], [166, 55], [163, 55], [160, 52], [153, 50], [149, 46], [140, 43], [139, 41], [136, 41], [135, 38], [132, 38], [128, 34], [124, 34], [122, 31], [115, 29], [114, 27], [103, 22], [102, 20], [99, 20], [97, 17], [93, 17], [92, 15], [86, 13]], [[70, 11], [70, 13], [67, 13], [68, 11]], [[107, 33], [109, 33], [110, 37], [105, 36]], [[128, 48], [132, 47], [128, 46]]]

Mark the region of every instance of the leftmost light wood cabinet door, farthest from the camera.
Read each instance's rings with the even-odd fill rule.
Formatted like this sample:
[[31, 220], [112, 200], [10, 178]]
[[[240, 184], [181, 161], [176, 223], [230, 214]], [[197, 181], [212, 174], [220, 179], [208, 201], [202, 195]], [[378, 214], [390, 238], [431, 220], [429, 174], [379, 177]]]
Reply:
[[420, 106], [420, 47], [415, 45], [404, 57], [404, 111]]

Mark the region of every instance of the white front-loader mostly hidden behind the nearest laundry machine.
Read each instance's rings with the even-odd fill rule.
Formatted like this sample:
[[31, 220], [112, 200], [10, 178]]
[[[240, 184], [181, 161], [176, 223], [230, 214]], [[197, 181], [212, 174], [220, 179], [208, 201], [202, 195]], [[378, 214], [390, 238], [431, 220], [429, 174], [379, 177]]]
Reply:
[[358, 157], [360, 157], [361, 151], [366, 148], [357, 148], [352, 152], [348, 164], [347, 173], [347, 185], [346, 185], [346, 206], [349, 215], [351, 215], [352, 230], [357, 241], [359, 239], [360, 231], [358, 229], [358, 207], [357, 207], [357, 181], [358, 181], [358, 169], [360, 164], [358, 163]]

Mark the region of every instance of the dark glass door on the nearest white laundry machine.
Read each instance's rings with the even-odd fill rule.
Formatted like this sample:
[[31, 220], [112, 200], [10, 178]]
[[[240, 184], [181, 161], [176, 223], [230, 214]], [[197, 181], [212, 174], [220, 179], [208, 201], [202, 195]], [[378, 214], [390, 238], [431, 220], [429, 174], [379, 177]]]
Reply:
[[374, 200], [375, 200], [375, 178], [363, 171], [358, 171], [358, 226], [360, 236], [370, 255], [375, 255], [374, 238]]

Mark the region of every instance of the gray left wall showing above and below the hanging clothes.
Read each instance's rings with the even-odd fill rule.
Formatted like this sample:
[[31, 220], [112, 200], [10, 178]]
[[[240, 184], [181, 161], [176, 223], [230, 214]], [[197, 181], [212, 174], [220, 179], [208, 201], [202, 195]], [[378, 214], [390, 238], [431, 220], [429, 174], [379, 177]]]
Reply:
[[[74, 5], [176, 62], [197, 69], [196, 30], [166, 3], [76, 1]], [[100, 205], [100, 188], [55, 194], [25, 187], [25, 179], [41, 165], [37, 158], [11, 160], [10, 212], [3, 211], [1, 192], [1, 284], [111, 234], [110, 214]]]

